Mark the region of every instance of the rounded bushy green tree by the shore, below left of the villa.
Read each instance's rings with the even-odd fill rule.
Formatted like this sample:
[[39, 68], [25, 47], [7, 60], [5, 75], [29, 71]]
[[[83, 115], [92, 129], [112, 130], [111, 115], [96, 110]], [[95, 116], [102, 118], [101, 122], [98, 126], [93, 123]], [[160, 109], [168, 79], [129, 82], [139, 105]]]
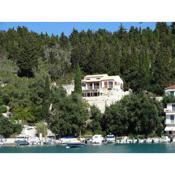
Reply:
[[[60, 90], [57, 89], [57, 92]], [[83, 134], [86, 130], [86, 121], [89, 118], [86, 103], [78, 94], [71, 96], [65, 96], [62, 92], [58, 94], [54, 98], [53, 108], [48, 118], [50, 129], [60, 137]]]

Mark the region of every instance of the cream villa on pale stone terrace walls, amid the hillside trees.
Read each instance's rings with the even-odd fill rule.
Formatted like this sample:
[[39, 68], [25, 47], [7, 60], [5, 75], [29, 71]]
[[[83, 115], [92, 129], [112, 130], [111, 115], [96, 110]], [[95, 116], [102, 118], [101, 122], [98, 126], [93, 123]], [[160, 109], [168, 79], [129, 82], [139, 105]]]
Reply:
[[[74, 91], [74, 83], [63, 86], [70, 95]], [[96, 106], [102, 113], [106, 106], [121, 100], [129, 92], [123, 90], [123, 80], [120, 76], [108, 74], [86, 75], [82, 80], [83, 98], [92, 106]]]

